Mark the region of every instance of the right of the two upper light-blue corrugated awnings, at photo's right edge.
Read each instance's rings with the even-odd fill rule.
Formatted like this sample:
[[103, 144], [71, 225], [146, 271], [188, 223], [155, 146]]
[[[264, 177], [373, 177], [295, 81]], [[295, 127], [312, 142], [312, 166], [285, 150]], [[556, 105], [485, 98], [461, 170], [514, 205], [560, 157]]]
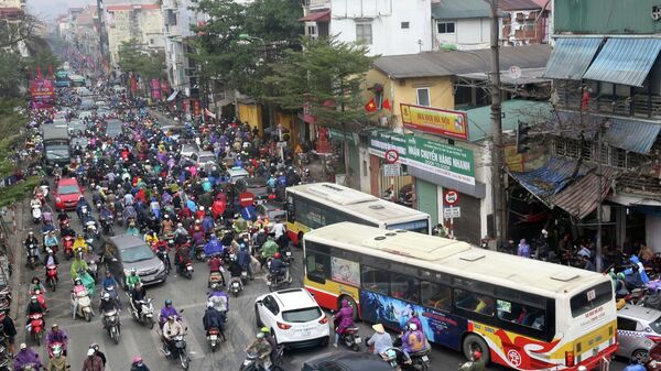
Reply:
[[642, 87], [659, 51], [661, 39], [608, 39], [583, 78]]

